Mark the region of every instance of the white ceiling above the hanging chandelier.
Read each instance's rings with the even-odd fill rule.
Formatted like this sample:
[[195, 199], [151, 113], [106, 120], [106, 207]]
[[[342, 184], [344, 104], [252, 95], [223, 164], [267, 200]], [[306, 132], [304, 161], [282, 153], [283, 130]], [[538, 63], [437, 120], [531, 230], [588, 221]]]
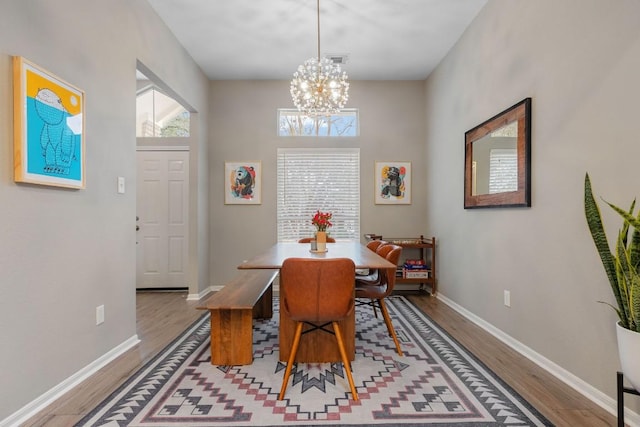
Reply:
[[[289, 80], [317, 57], [315, 0], [148, 0], [212, 80]], [[322, 56], [354, 80], [423, 80], [487, 0], [320, 0]]]

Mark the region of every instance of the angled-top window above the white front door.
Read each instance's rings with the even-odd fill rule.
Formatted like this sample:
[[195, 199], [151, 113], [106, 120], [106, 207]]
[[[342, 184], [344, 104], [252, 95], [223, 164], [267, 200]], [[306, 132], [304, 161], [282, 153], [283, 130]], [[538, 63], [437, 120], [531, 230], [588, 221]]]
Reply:
[[189, 121], [189, 112], [155, 86], [147, 86], [138, 91], [137, 137], [188, 137]]

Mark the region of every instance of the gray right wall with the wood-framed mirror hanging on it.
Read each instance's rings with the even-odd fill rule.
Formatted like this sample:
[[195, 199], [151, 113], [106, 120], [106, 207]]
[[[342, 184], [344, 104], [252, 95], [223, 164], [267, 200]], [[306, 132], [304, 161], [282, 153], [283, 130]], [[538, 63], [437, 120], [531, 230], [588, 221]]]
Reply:
[[[425, 91], [442, 295], [612, 398], [616, 316], [597, 303], [612, 296], [583, 185], [589, 172], [595, 193], [621, 206], [640, 195], [639, 19], [634, 0], [492, 0]], [[464, 210], [464, 132], [528, 96], [532, 207]], [[615, 238], [620, 221], [602, 209]]]

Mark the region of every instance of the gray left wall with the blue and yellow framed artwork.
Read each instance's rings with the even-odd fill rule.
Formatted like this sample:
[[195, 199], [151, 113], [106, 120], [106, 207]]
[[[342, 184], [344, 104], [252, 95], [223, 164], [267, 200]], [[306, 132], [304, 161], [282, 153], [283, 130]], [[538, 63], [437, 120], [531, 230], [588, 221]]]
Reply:
[[[14, 183], [12, 55], [85, 91], [85, 190]], [[0, 3], [0, 420], [136, 335], [136, 60], [207, 116], [206, 78], [145, 1]], [[206, 120], [195, 133], [197, 180]], [[206, 180], [192, 187], [206, 233]], [[194, 240], [206, 266], [208, 239]], [[195, 292], [208, 271], [193, 270]]]

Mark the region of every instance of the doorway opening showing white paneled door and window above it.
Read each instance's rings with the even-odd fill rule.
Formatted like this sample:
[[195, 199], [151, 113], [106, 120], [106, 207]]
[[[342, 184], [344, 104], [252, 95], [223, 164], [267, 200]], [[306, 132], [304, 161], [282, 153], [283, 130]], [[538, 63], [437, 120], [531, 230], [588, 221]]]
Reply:
[[188, 291], [191, 115], [138, 61], [136, 290]]

